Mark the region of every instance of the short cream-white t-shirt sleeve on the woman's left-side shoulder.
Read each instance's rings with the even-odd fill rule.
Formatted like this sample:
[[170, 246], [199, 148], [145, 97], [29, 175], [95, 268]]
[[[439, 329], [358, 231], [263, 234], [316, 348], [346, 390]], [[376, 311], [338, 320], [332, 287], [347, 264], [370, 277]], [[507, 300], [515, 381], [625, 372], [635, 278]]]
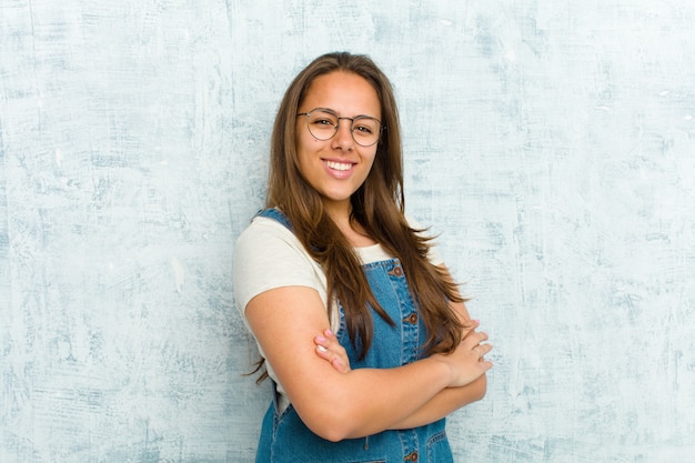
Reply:
[[256, 218], [234, 246], [233, 286], [244, 313], [254, 296], [282, 286], [316, 288], [316, 264], [294, 234], [272, 219]]

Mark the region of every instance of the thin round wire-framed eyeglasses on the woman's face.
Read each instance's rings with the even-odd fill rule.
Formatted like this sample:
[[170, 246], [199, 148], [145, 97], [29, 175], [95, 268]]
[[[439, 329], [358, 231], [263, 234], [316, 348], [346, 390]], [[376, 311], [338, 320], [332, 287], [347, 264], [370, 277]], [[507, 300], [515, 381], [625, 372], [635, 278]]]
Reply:
[[318, 140], [330, 140], [338, 133], [341, 119], [350, 121], [350, 133], [360, 147], [371, 147], [379, 141], [382, 125], [381, 121], [370, 115], [356, 118], [339, 118], [330, 109], [318, 108], [309, 112], [300, 112], [296, 115], [306, 115], [306, 127]]

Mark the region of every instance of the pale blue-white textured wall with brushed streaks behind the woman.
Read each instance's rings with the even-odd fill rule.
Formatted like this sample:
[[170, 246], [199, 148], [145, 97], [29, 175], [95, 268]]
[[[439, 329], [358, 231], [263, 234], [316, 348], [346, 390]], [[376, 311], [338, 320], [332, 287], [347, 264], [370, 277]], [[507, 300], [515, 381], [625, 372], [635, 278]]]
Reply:
[[0, 461], [243, 462], [233, 309], [281, 93], [370, 53], [496, 345], [457, 461], [692, 461], [695, 4], [3, 0]]

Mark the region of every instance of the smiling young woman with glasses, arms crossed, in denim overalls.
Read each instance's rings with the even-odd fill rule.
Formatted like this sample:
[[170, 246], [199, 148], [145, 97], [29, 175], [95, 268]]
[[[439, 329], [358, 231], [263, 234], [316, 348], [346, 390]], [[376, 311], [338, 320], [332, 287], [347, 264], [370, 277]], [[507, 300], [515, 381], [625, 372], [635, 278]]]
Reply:
[[274, 391], [256, 462], [452, 461], [444, 417], [484, 396], [492, 346], [402, 188], [389, 80], [319, 57], [284, 94], [266, 209], [234, 251]]

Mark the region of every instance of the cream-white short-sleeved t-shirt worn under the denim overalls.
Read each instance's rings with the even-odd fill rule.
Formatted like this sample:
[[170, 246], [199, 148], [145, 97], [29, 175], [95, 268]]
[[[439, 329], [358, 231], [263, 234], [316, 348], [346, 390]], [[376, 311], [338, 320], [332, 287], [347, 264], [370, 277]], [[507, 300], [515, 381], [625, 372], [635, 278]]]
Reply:
[[[411, 227], [421, 227], [409, 219]], [[355, 252], [362, 264], [392, 259], [381, 244], [365, 248], [355, 248]], [[434, 246], [430, 248], [430, 261], [442, 264], [442, 259]], [[294, 233], [274, 219], [256, 217], [251, 224], [241, 233], [234, 248], [233, 261], [233, 286], [236, 309], [246, 323], [245, 309], [249, 302], [256, 295], [283, 286], [308, 286], [316, 290], [323, 306], [328, 311], [326, 280], [321, 266], [309, 255], [302, 243]], [[338, 334], [340, 319], [338, 311], [329, 311], [334, 314], [331, 320], [331, 330]], [[246, 323], [246, 328], [251, 331]], [[318, 333], [316, 333], [318, 334]], [[258, 342], [256, 342], [258, 343]], [[259, 345], [259, 352], [263, 358], [265, 353]], [[272, 366], [265, 362], [268, 374], [278, 383], [278, 392], [281, 395], [281, 409], [284, 410], [286, 396], [282, 385], [278, 382]]]

